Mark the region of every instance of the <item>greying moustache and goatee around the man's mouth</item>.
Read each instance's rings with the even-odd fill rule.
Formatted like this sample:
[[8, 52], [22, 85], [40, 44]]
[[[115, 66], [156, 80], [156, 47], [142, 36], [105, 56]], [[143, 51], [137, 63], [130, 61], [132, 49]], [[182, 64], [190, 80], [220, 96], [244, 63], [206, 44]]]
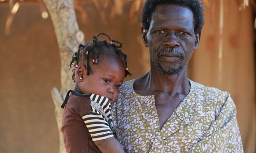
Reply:
[[[184, 54], [183, 54], [182, 52], [180, 52], [180, 51], [174, 49], [174, 48], [166, 48], [166, 49], [164, 49], [164, 50], [161, 50], [161, 51], [159, 51], [159, 52], [156, 53], [156, 57], [157, 57], [157, 58], [160, 58], [161, 55], [162, 55], [163, 53], [166, 53], [166, 52], [171, 52], [172, 55], [176, 55], [176, 56], [180, 57], [181, 60], [184, 59]], [[171, 63], [171, 64], [173, 64], [173, 63]], [[157, 67], [157, 69], [158, 69], [161, 73], [166, 74], [166, 75], [175, 75], [175, 74], [177, 74], [177, 73], [180, 73], [181, 70], [183, 69], [182, 64], [181, 64], [179, 67], [177, 67], [177, 68], [168, 68], [168, 67], [163, 67], [163, 66], [160, 64], [160, 62], [156, 62], [156, 63], [155, 63], [155, 66]]]

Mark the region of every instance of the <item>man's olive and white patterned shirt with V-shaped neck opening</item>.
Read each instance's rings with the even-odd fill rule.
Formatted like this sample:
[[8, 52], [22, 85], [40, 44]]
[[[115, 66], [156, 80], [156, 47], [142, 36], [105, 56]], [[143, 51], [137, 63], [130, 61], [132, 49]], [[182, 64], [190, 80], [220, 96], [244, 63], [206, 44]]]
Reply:
[[155, 97], [125, 82], [113, 104], [113, 124], [125, 152], [243, 152], [236, 106], [228, 92], [190, 81], [190, 91], [160, 129]]

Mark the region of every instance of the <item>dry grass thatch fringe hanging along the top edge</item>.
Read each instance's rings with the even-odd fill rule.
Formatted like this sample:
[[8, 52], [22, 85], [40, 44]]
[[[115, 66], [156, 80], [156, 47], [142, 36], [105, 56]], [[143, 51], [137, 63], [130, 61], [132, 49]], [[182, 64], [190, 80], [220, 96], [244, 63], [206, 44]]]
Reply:
[[[235, 0], [239, 5], [239, 10], [245, 9], [247, 6], [252, 5], [256, 8], [255, 0]], [[81, 6], [81, 3], [94, 3], [97, 10], [99, 11], [101, 20], [103, 24], [107, 24], [108, 21], [106, 19], [106, 10], [111, 9], [110, 17], [114, 18], [116, 15], [122, 15], [123, 8], [127, 3], [131, 3], [130, 11], [129, 11], [129, 20], [131, 23], [136, 22], [139, 20], [137, 13], [140, 12], [140, 8], [142, 7], [144, 0], [74, 0], [74, 8], [78, 11], [81, 15], [82, 22], [85, 23], [87, 21], [88, 13], [84, 10]], [[205, 4], [205, 7], [210, 7], [213, 5], [214, 0], [202, 0]], [[227, 4], [227, 0], [220, 0], [221, 3], [224, 5]], [[40, 5], [40, 11], [42, 13], [43, 18], [48, 17], [48, 13], [46, 11], [45, 5], [42, 0], [0, 0], [0, 4], [7, 4], [10, 7], [10, 12], [8, 13], [8, 18], [5, 22], [5, 35], [9, 35], [10, 27], [12, 25], [12, 21], [20, 4], [31, 4], [37, 3]], [[212, 9], [213, 10], [213, 9]], [[256, 10], [256, 9], [254, 9]], [[213, 11], [212, 11], [213, 12]], [[255, 11], [256, 12], [256, 11]], [[255, 19], [255, 28], [256, 28], [256, 19]]]

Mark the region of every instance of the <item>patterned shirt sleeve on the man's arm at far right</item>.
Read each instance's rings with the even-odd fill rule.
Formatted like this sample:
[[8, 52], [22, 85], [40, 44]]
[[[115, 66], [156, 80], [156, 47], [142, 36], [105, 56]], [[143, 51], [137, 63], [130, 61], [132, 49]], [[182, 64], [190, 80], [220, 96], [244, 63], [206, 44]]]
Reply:
[[228, 94], [208, 132], [190, 152], [243, 153], [236, 114], [236, 106]]

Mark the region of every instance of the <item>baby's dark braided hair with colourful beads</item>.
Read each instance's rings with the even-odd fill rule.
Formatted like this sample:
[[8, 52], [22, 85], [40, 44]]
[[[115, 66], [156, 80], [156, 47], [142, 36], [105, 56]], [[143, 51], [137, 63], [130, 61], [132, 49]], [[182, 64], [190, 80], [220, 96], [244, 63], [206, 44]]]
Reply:
[[[106, 40], [98, 40], [98, 36], [105, 35], [109, 38], [109, 42], [107, 43]], [[115, 43], [118, 44], [118, 46], [115, 45]], [[105, 33], [99, 33], [95, 36], [93, 36], [93, 41], [89, 41], [85, 45], [80, 44], [78, 47], [78, 51], [74, 53], [72, 56], [72, 60], [69, 65], [69, 69], [74, 67], [72, 70], [72, 80], [75, 82], [75, 69], [79, 65], [84, 65], [87, 68], [87, 75], [90, 75], [91, 67], [90, 67], [90, 60], [93, 62], [93, 64], [99, 63], [99, 57], [102, 54], [105, 55], [117, 55], [120, 60], [123, 62], [125, 66], [125, 77], [127, 75], [131, 75], [131, 73], [128, 71], [127, 66], [127, 56], [124, 54], [119, 48], [122, 47], [122, 43], [120, 41], [111, 39], [109, 35]], [[86, 64], [86, 65], [85, 65]]]

